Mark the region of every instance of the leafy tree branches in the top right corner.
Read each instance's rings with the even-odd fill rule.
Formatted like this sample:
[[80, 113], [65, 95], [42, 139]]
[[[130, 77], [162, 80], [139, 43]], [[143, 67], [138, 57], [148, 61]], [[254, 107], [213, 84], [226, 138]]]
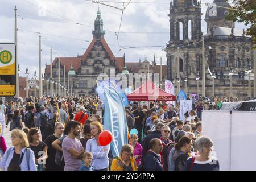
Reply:
[[255, 0], [233, 0], [234, 6], [229, 10], [228, 20], [245, 23], [249, 28], [246, 35], [251, 35], [256, 45], [256, 1]]

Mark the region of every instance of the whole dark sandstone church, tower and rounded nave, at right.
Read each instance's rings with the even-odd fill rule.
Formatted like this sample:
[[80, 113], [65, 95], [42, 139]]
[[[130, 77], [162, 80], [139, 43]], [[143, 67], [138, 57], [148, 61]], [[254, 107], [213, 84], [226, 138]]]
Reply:
[[[230, 69], [233, 69], [233, 96], [246, 98], [248, 96], [248, 73], [253, 68], [253, 44], [244, 30], [237, 30], [234, 22], [225, 19], [231, 6], [225, 0], [214, 0], [205, 13], [207, 32], [201, 32], [201, 4], [197, 0], [174, 0], [170, 2], [170, 41], [166, 47], [167, 78], [180, 78], [180, 89], [185, 86], [189, 93], [197, 93], [196, 77], [199, 80], [199, 95], [201, 95], [202, 78], [202, 36], [205, 40], [205, 85], [206, 96], [213, 96], [213, 78], [209, 71], [216, 74], [215, 96], [230, 96]], [[220, 7], [222, 6], [222, 7]], [[179, 69], [177, 75], [177, 57], [179, 47]], [[209, 66], [209, 68], [208, 68]], [[253, 73], [251, 88], [253, 88]], [[251, 91], [251, 93], [253, 93]]]

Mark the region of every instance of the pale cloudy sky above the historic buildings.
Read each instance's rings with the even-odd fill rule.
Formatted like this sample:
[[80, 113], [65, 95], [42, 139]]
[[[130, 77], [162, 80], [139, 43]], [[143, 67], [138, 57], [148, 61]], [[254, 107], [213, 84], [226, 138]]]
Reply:
[[[107, 1], [107, 0], [102, 0]], [[129, 0], [110, 0], [108, 5], [122, 9]], [[147, 3], [142, 3], [147, 2]], [[202, 32], [206, 31], [204, 22], [207, 3], [202, 2]], [[115, 56], [126, 54], [126, 61], [135, 62], [139, 59], [152, 61], [154, 53], [156, 63], [166, 64], [166, 54], [162, 48], [169, 37], [168, 0], [131, 0], [123, 11], [122, 23], [117, 40], [117, 32], [121, 22], [122, 11], [113, 7], [98, 5], [90, 0], [0, 0], [0, 42], [14, 42], [14, 7], [18, 11], [18, 62], [21, 76], [26, 67], [30, 76], [39, 67], [39, 34], [42, 36], [42, 73], [44, 64], [50, 63], [50, 48], [55, 57], [76, 57], [81, 55], [93, 38], [92, 30], [98, 7], [106, 30], [105, 39]], [[236, 28], [246, 28], [236, 23]], [[129, 48], [125, 46], [148, 46], [148, 48]], [[158, 46], [158, 47], [151, 47]], [[151, 48], [150, 48], [151, 47]], [[120, 50], [121, 48], [121, 50]]]

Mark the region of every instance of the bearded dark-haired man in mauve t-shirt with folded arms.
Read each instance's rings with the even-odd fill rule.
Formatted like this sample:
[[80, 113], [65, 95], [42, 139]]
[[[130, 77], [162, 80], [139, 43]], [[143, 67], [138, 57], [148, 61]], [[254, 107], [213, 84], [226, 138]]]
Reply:
[[64, 171], [79, 171], [82, 166], [82, 154], [85, 150], [79, 139], [76, 137], [81, 133], [80, 123], [70, 121], [67, 124], [68, 136], [63, 140], [62, 149], [65, 160]]

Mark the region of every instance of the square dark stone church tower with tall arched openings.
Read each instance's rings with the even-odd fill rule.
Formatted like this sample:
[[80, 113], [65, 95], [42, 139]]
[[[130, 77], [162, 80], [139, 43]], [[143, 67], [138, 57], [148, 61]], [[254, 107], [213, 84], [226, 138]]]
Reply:
[[[201, 74], [201, 3], [197, 0], [173, 0], [170, 2], [170, 41], [167, 44], [167, 78], [190, 78], [195, 86], [197, 74]], [[179, 47], [179, 71], [177, 57]], [[201, 76], [200, 76], [201, 77]], [[184, 82], [181, 82], [182, 86]]]

